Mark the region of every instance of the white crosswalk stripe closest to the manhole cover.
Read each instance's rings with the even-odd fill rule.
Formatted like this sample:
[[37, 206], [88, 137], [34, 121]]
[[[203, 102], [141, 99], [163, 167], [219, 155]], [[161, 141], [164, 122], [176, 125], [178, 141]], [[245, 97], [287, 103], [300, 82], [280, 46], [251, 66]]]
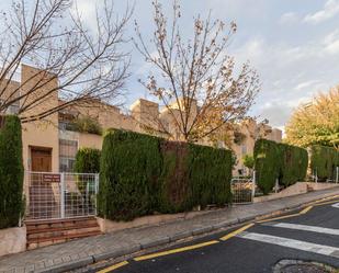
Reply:
[[278, 236], [271, 236], [271, 235], [263, 235], [263, 234], [256, 234], [256, 232], [242, 232], [238, 235], [237, 237], [255, 240], [255, 241], [261, 241], [267, 242], [271, 244], [276, 244], [281, 247], [303, 250], [316, 254], [323, 254], [323, 255], [329, 255], [339, 258], [339, 248], [324, 246], [324, 244], [317, 244], [313, 242], [306, 242], [295, 239], [289, 239], [284, 237], [278, 237]]

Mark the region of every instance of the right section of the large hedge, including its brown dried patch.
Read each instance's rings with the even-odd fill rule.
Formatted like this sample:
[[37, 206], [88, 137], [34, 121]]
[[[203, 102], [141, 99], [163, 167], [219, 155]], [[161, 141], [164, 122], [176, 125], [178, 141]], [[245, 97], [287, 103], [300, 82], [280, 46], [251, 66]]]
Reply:
[[229, 150], [162, 140], [161, 156], [158, 212], [178, 213], [231, 201]]

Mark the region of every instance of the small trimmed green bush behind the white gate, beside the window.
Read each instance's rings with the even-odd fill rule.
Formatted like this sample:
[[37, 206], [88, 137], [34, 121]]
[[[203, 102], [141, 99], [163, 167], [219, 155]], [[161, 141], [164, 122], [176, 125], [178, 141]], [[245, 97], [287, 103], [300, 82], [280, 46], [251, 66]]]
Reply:
[[76, 155], [75, 172], [98, 173], [100, 171], [101, 151], [92, 148], [81, 148]]

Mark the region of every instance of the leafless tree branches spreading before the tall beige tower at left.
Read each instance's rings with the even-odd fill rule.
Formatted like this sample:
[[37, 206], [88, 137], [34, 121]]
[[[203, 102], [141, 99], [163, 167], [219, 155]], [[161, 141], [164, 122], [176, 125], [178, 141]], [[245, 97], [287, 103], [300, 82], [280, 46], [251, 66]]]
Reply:
[[[2, 14], [0, 112], [19, 104], [19, 116], [26, 123], [74, 104], [116, 99], [128, 77], [129, 53], [122, 46], [133, 9], [127, 7], [118, 16], [104, 1], [97, 9], [95, 26], [89, 29], [71, 0], [32, 2], [13, 1]], [[13, 86], [21, 64], [37, 69]], [[53, 95], [60, 101], [48, 105]]]

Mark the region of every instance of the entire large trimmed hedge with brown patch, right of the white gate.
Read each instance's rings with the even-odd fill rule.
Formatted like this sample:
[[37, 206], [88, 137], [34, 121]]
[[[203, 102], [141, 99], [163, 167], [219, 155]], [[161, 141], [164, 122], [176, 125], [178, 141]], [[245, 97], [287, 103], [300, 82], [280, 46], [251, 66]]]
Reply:
[[231, 153], [124, 130], [106, 134], [99, 214], [129, 220], [230, 202]]

